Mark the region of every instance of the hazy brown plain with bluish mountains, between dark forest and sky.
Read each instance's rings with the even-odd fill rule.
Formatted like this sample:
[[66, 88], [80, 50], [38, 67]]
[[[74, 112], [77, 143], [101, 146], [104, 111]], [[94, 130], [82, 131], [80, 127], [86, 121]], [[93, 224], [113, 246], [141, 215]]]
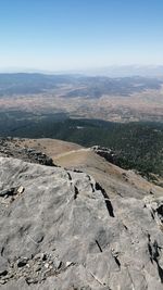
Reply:
[[0, 112], [63, 113], [110, 122], [163, 121], [160, 77], [0, 75]]

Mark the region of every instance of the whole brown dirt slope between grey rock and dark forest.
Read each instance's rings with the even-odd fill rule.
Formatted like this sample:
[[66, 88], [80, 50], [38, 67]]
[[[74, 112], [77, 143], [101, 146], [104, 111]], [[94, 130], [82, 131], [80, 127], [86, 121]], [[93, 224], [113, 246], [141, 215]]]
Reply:
[[109, 196], [142, 198], [149, 193], [153, 196], [163, 193], [161, 187], [147, 181], [134, 171], [125, 171], [106, 162], [97, 155], [92, 149], [55, 139], [14, 138], [11, 142], [18, 149], [32, 148], [41, 151], [59, 166], [79, 169], [91, 175]]

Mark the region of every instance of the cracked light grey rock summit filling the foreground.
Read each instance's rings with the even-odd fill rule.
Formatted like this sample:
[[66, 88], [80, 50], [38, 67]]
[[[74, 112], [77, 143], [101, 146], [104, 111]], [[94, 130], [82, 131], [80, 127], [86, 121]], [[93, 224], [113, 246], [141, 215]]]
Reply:
[[0, 289], [162, 290], [163, 194], [128, 192], [1, 156]]

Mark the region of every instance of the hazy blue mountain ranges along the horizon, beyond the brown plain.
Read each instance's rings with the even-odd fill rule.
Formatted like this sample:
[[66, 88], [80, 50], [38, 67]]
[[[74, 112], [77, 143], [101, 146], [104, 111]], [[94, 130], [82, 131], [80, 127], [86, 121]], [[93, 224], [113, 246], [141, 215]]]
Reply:
[[[65, 97], [100, 98], [102, 94], [128, 96], [146, 89], [160, 89], [163, 78], [106, 77], [85, 75], [0, 74], [0, 96], [40, 93], [60, 88]], [[71, 86], [62, 92], [63, 86]]]

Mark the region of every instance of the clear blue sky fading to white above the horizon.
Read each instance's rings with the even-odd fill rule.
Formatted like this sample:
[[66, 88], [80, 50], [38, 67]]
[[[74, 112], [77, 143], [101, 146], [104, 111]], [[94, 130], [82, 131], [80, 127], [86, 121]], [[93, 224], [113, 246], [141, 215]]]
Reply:
[[0, 0], [0, 71], [163, 64], [163, 0]]

